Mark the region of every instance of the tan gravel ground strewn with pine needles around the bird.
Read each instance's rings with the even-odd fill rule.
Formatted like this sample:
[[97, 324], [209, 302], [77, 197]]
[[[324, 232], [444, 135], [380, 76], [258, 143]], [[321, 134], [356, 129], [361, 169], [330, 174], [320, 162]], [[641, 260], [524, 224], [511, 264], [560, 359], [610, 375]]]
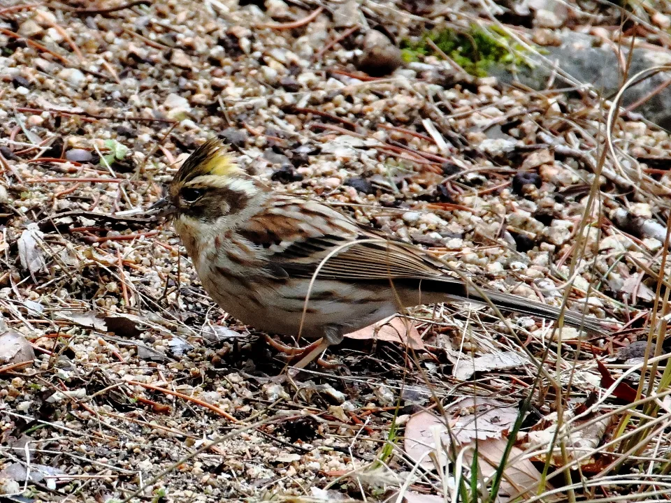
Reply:
[[[410, 477], [412, 494], [442, 495], [403, 453], [410, 415], [474, 394], [514, 406], [537, 374], [529, 362], [466, 386], [460, 354], [561, 348], [555, 377], [578, 398], [598, 389], [594, 355], [647, 335], [665, 254], [664, 227], [643, 222], [668, 215], [671, 139], [623, 112], [617, 155], [600, 161], [609, 104], [586, 87], [500, 85], [438, 52], [400, 59], [391, 39], [434, 25], [512, 23], [485, 3], [0, 6], [0, 311], [36, 355], [0, 375], [0, 493], [382, 501]], [[547, 12], [505, 27], [551, 43], [561, 27], [619, 26], [600, 3]], [[668, 34], [670, 14], [649, 23]], [[417, 351], [371, 330], [330, 351], [340, 365], [277, 384], [282, 358], [212, 303], [171, 228], [137, 211], [213, 134], [278, 191], [338, 205], [491, 289], [560, 305], [572, 282], [570, 306], [628, 324], [598, 339], [565, 329], [557, 344], [542, 320], [512, 316], [514, 340], [487, 309], [419, 307]], [[539, 395], [538, 412], [554, 399]]]

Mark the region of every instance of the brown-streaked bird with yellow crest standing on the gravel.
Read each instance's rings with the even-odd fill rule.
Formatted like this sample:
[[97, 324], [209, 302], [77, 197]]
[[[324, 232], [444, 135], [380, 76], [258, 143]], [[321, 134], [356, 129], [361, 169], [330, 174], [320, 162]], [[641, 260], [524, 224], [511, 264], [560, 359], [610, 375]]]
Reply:
[[182, 163], [152, 205], [171, 219], [205, 291], [235, 319], [317, 342], [301, 368], [344, 335], [438, 302], [471, 302], [603, 333], [596, 318], [455, 277], [445, 263], [315, 198], [252, 177], [217, 139]]

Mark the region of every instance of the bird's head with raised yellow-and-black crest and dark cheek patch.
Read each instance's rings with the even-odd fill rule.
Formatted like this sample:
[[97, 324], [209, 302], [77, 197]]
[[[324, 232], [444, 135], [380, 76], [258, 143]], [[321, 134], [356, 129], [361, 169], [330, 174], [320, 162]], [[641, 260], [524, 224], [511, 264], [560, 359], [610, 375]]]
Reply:
[[[226, 153], [216, 138], [198, 147], [182, 164], [168, 196], [154, 205], [175, 223], [214, 226], [235, 218], [263, 189]], [[218, 225], [217, 225], [218, 226]]]

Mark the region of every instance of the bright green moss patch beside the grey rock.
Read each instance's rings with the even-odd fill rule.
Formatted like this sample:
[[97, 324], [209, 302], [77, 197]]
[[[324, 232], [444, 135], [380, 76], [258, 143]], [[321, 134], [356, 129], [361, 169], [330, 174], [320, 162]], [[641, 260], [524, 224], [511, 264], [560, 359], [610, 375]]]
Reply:
[[[435, 50], [433, 42], [440, 51]], [[525, 64], [524, 58], [513, 51], [523, 50], [505, 33], [492, 27], [473, 26], [466, 33], [453, 29], [434, 29], [422, 34], [419, 40], [401, 41], [401, 54], [405, 61], [421, 61], [427, 54], [441, 57], [441, 52], [454, 59], [456, 64], [471, 75], [484, 77], [493, 64], [514, 66]]]

